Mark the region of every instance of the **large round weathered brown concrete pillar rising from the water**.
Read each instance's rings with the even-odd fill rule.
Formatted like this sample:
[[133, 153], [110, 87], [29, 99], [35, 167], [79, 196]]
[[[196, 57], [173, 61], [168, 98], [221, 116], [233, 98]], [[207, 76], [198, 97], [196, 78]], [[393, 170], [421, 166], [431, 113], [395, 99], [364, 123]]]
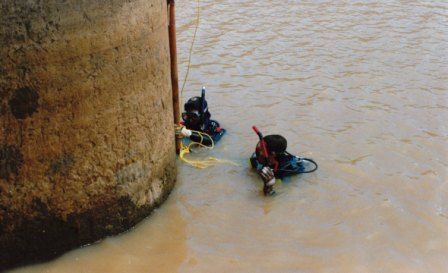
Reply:
[[0, 270], [122, 232], [172, 189], [166, 10], [0, 2]]

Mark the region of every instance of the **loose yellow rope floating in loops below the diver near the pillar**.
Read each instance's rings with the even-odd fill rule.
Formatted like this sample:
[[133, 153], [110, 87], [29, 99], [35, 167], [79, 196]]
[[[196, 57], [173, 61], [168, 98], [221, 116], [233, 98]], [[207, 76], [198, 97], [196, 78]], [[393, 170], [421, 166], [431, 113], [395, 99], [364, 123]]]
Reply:
[[[208, 150], [211, 150], [211, 149], [213, 149], [215, 147], [215, 142], [213, 141], [213, 139], [211, 138], [210, 135], [208, 135], [208, 134], [206, 134], [204, 132], [195, 131], [195, 130], [191, 130], [191, 132], [197, 133], [201, 137], [201, 140], [200, 140], [200, 142], [191, 141], [186, 146], [183, 145], [183, 143], [182, 143], [182, 147], [181, 147], [180, 152], [179, 152], [179, 159], [180, 160], [182, 160], [185, 163], [187, 163], [187, 164], [189, 164], [189, 165], [191, 165], [191, 166], [193, 166], [195, 168], [198, 168], [198, 169], [205, 169], [205, 168], [208, 168], [208, 167], [211, 167], [211, 166], [215, 166], [217, 164], [230, 164], [230, 165], [234, 165], [234, 166], [239, 166], [238, 164], [236, 164], [233, 161], [225, 160], [225, 159], [219, 159], [219, 158], [211, 157], [211, 156], [209, 156], [209, 157], [207, 157], [206, 159], [203, 159], [203, 160], [187, 159], [185, 156], [190, 153], [192, 146], [200, 146], [200, 147], [204, 147], [204, 148], [206, 148]], [[203, 144], [204, 137], [208, 137], [211, 140], [211, 142], [212, 142], [211, 146], [207, 146], [207, 145]]]

